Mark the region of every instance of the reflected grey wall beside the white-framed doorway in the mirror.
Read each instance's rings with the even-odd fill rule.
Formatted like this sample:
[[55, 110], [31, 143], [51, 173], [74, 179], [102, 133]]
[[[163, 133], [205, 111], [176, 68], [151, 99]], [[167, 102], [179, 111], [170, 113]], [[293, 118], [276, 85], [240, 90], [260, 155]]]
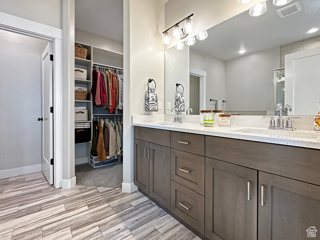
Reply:
[[190, 68], [207, 72], [205, 108], [215, 110], [215, 100], [225, 100], [225, 64], [224, 61], [190, 47]]

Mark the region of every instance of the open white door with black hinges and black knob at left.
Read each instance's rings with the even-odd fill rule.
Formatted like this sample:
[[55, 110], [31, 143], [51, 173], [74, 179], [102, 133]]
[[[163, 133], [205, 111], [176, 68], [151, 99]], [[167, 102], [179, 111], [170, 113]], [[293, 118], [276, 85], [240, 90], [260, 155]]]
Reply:
[[[52, 43], [49, 43], [41, 55], [42, 72], [42, 172], [50, 184], [53, 184], [53, 114], [50, 107], [53, 106], [52, 84], [53, 84], [53, 61]], [[53, 161], [53, 160], [52, 160]]]

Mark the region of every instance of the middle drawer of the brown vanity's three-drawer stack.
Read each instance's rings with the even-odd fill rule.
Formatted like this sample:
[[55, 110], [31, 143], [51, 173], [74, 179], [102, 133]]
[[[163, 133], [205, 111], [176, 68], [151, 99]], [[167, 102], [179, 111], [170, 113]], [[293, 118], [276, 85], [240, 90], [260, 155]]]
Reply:
[[171, 149], [171, 180], [204, 195], [204, 157]]

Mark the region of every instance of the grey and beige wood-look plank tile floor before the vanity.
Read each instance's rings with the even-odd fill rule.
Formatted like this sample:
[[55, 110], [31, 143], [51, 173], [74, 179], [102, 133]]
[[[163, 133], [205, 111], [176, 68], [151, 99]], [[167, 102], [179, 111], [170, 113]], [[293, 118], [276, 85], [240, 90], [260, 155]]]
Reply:
[[0, 179], [1, 240], [200, 240], [140, 192], [55, 189], [42, 172]]

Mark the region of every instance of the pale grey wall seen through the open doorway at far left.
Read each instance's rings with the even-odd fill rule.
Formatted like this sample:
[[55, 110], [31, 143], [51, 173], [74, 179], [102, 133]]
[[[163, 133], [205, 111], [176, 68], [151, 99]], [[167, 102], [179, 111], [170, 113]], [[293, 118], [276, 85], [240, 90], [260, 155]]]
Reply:
[[47, 44], [0, 30], [0, 179], [12, 171], [41, 171], [41, 53]]

